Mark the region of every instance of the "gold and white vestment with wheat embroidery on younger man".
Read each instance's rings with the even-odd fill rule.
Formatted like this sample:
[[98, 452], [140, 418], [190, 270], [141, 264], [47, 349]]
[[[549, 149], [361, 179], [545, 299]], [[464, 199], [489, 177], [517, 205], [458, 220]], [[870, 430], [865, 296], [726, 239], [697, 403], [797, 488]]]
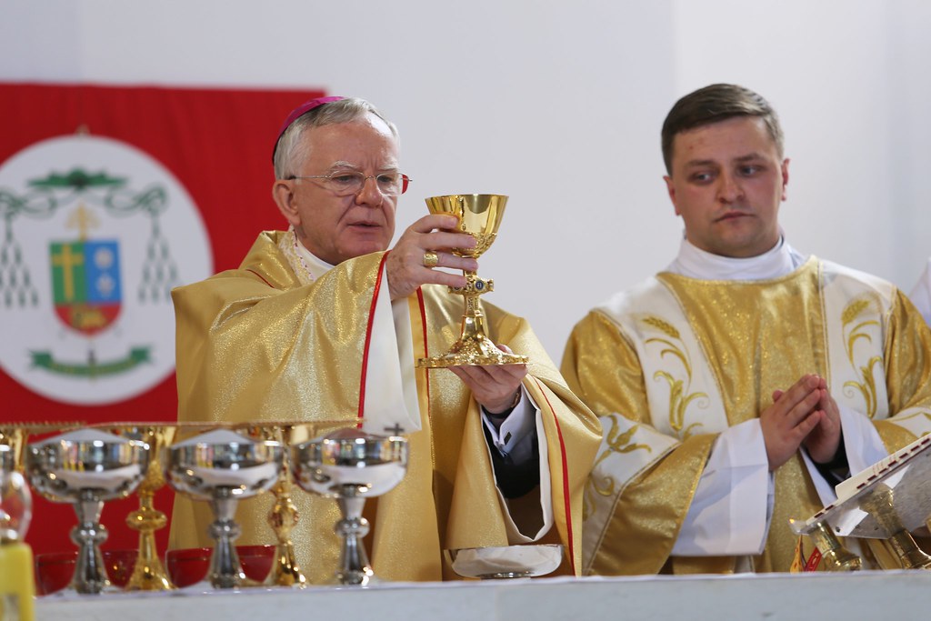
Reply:
[[[868, 416], [889, 451], [931, 431], [922, 323], [892, 285], [814, 257], [773, 280], [662, 273], [593, 310], [562, 361], [604, 428], [585, 493], [583, 573], [734, 571], [736, 557], [674, 557], [672, 547], [717, 435], [805, 373]], [[775, 477], [764, 551], [743, 558], [758, 572], [789, 571], [798, 540], [788, 520], [822, 506], [800, 454]]]

